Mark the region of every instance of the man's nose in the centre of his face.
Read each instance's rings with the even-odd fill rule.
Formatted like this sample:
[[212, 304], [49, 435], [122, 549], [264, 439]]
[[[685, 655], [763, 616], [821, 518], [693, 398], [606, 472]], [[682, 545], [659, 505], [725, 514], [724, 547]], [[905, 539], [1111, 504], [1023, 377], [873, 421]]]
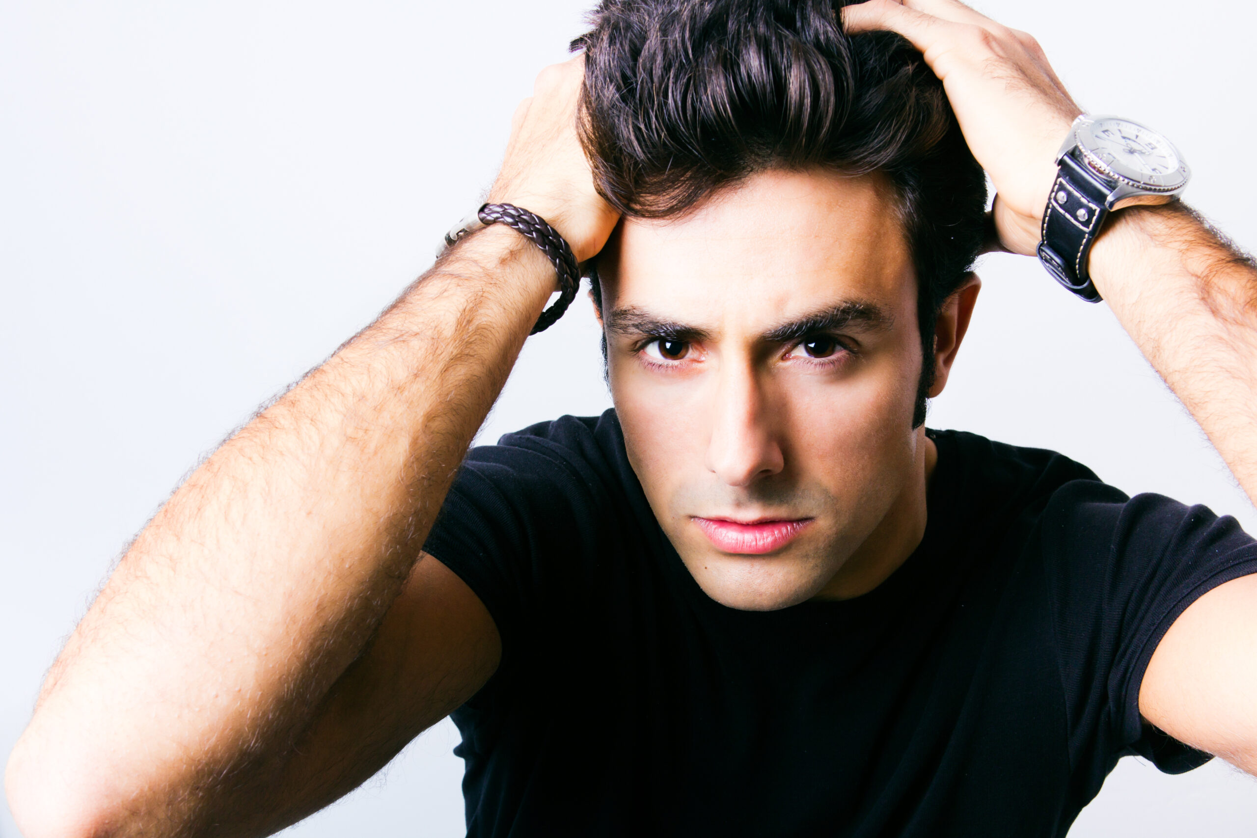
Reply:
[[754, 368], [749, 363], [722, 368], [711, 405], [708, 470], [730, 486], [779, 472], [786, 457], [772, 420]]

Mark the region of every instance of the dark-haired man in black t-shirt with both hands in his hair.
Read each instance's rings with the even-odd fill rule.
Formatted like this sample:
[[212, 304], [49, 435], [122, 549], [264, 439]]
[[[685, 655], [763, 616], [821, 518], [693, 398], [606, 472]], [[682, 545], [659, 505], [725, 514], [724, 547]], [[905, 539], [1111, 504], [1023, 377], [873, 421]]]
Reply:
[[[982, 170], [1013, 253], [1096, 209], [1035, 43], [954, 0], [657, 0], [582, 45], [490, 200], [595, 268], [615, 413], [459, 469], [554, 286], [468, 235], [136, 539], [10, 760], [28, 838], [266, 834], [451, 712], [475, 835], [1058, 835], [1130, 750], [1257, 773], [1252, 539], [923, 425]], [[1254, 496], [1251, 260], [1177, 204], [1091, 232], [1062, 281]]]

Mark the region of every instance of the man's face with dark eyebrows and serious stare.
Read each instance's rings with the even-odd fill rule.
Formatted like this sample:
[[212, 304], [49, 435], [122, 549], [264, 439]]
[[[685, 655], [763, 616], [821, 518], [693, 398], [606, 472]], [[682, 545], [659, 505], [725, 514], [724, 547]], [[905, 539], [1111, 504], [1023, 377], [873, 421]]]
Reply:
[[882, 177], [757, 175], [681, 220], [626, 220], [598, 265], [628, 459], [708, 596], [851, 596], [862, 553], [915, 545], [931, 443]]

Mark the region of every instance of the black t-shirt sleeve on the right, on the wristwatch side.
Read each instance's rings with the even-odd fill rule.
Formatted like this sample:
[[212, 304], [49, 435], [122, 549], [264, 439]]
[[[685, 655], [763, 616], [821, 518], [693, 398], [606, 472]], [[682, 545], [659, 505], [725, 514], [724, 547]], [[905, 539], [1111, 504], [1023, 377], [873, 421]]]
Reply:
[[[1257, 544], [1236, 519], [1161, 495], [1126, 499], [1073, 481], [1043, 516], [1071, 759], [1111, 766], [1140, 754], [1166, 773], [1208, 761], [1144, 722], [1139, 688], [1175, 619], [1217, 585], [1257, 573]], [[1107, 768], [1104, 768], [1107, 771]]]

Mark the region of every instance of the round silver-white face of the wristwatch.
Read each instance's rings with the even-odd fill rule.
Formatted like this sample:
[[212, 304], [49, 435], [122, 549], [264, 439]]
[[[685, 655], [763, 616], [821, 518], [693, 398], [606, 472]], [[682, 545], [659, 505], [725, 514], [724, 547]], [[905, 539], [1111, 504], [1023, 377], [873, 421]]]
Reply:
[[1188, 168], [1165, 137], [1138, 122], [1092, 117], [1075, 128], [1079, 148], [1101, 173], [1155, 192], [1187, 185]]

